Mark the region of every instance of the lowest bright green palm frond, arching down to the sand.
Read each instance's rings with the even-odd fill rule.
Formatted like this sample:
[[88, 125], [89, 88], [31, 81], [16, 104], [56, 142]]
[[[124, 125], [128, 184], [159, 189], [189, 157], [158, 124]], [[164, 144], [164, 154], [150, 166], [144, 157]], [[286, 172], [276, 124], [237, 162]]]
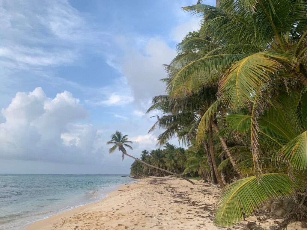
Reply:
[[293, 182], [287, 174], [268, 173], [235, 181], [223, 188], [217, 203], [214, 224], [230, 227], [248, 217], [264, 201], [276, 196], [289, 196]]

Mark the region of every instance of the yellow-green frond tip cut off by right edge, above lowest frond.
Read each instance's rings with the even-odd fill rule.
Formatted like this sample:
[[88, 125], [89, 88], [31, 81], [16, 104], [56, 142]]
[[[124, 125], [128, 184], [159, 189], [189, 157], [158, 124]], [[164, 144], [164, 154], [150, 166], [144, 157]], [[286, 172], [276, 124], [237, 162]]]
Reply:
[[279, 154], [298, 170], [307, 169], [307, 131], [281, 148]]

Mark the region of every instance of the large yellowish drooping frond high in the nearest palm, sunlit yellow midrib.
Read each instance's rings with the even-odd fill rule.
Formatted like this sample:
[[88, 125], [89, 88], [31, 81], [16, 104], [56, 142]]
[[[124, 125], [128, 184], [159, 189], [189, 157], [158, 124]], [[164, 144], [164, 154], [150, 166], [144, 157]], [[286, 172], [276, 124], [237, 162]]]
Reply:
[[260, 86], [270, 81], [270, 74], [282, 67], [276, 59], [294, 62], [291, 55], [271, 51], [258, 52], [236, 62], [220, 82], [219, 91], [224, 101], [232, 108], [252, 102]]

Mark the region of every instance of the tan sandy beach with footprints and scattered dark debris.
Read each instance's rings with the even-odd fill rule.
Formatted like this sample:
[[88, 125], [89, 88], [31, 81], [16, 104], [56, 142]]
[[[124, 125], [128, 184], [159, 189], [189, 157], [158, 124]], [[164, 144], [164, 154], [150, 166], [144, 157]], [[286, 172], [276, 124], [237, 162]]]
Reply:
[[212, 219], [219, 189], [195, 182], [141, 179], [119, 186], [101, 201], [53, 215], [26, 229], [218, 229]]

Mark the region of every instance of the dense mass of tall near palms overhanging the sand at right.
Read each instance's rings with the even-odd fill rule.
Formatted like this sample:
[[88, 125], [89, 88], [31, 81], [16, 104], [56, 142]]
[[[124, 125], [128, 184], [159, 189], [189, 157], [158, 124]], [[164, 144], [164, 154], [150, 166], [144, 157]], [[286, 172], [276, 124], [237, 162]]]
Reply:
[[307, 216], [307, 1], [217, 2], [183, 8], [203, 24], [178, 44], [167, 94], [148, 110], [163, 113], [150, 130], [165, 130], [158, 144], [178, 137], [189, 146], [185, 164], [167, 148], [148, 159], [220, 184], [218, 225], [292, 197], [284, 227]]

